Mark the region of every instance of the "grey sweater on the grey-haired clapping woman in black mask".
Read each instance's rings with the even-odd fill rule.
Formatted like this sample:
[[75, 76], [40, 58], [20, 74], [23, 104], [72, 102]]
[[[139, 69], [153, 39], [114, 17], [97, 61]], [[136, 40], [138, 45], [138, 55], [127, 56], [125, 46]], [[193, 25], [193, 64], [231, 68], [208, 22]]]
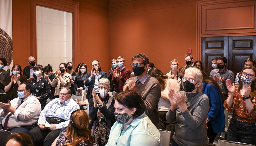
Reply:
[[[185, 91], [178, 92], [186, 95]], [[188, 101], [187, 96], [185, 99]], [[205, 129], [206, 116], [209, 111], [208, 96], [197, 93], [186, 107], [187, 110], [183, 113], [177, 106], [176, 110], [171, 112], [169, 109], [166, 114], [168, 122], [171, 123], [176, 119], [173, 140], [180, 146], [200, 146], [208, 143]]]

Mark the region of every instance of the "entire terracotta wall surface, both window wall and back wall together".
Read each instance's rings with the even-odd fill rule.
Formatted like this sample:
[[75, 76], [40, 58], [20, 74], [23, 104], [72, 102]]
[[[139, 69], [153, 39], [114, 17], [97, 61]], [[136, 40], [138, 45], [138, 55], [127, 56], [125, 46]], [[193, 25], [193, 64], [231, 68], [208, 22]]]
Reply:
[[[13, 0], [13, 62], [22, 68], [28, 65], [31, 55], [31, 1]], [[193, 56], [197, 53], [195, 0], [170, 0], [164, 4], [151, 0], [153, 5], [145, 2], [135, 5], [138, 7], [74, 1], [79, 2], [80, 47], [75, 60], [88, 67], [98, 59], [102, 70], [108, 71], [111, 59], [124, 56], [131, 69], [132, 56], [144, 53], [166, 73], [172, 59], [177, 59], [180, 67], [185, 66], [187, 48], [192, 48]]]

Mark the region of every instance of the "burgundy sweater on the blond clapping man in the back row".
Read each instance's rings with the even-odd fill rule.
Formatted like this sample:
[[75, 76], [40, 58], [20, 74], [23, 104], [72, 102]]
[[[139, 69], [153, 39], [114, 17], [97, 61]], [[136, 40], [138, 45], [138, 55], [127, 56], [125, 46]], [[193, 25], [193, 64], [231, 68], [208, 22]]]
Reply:
[[121, 72], [121, 76], [123, 77], [122, 79], [118, 78], [118, 77], [114, 77], [112, 76], [112, 84], [114, 84], [114, 90], [115, 91], [123, 91], [123, 87], [124, 87], [124, 83], [126, 82], [127, 79], [130, 78], [131, 76], [131, 71], [127, 68], [125, 68], [124, 70], [120, 71], [119, 68], [116, 68], [114, 71], [116, 71], [117, 73]]

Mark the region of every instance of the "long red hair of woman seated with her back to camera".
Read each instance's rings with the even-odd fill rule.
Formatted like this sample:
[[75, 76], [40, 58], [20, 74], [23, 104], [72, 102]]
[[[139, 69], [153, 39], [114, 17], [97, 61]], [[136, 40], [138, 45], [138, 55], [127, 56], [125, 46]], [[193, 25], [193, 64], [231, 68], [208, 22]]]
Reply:
[[89, 125], [89, 116], [84, 110], [78, 110], [74, 112], [71, 117], [73, 124], [75, 127], [73, 127], [70, 122], [67, 127], [67, 141], [72, 142], [70, 144], [67, 144], [66, 142], [64, 145], [67, 146], [76, 146], [79, 142], [85, 140], [88, 141], [91, 145], [93, 144], [93, 137], [91, 135], [91, 131], [88, 129]]

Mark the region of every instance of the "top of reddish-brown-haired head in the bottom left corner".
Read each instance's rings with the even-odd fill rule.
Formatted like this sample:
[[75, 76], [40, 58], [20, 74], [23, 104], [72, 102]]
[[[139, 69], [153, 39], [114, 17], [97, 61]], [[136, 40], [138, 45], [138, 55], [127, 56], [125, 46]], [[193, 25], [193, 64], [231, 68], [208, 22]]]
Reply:
[[8, 136], [8, 142], [5, 146], [33, 146], [33, 144], [27, 134], [17, 132]]

